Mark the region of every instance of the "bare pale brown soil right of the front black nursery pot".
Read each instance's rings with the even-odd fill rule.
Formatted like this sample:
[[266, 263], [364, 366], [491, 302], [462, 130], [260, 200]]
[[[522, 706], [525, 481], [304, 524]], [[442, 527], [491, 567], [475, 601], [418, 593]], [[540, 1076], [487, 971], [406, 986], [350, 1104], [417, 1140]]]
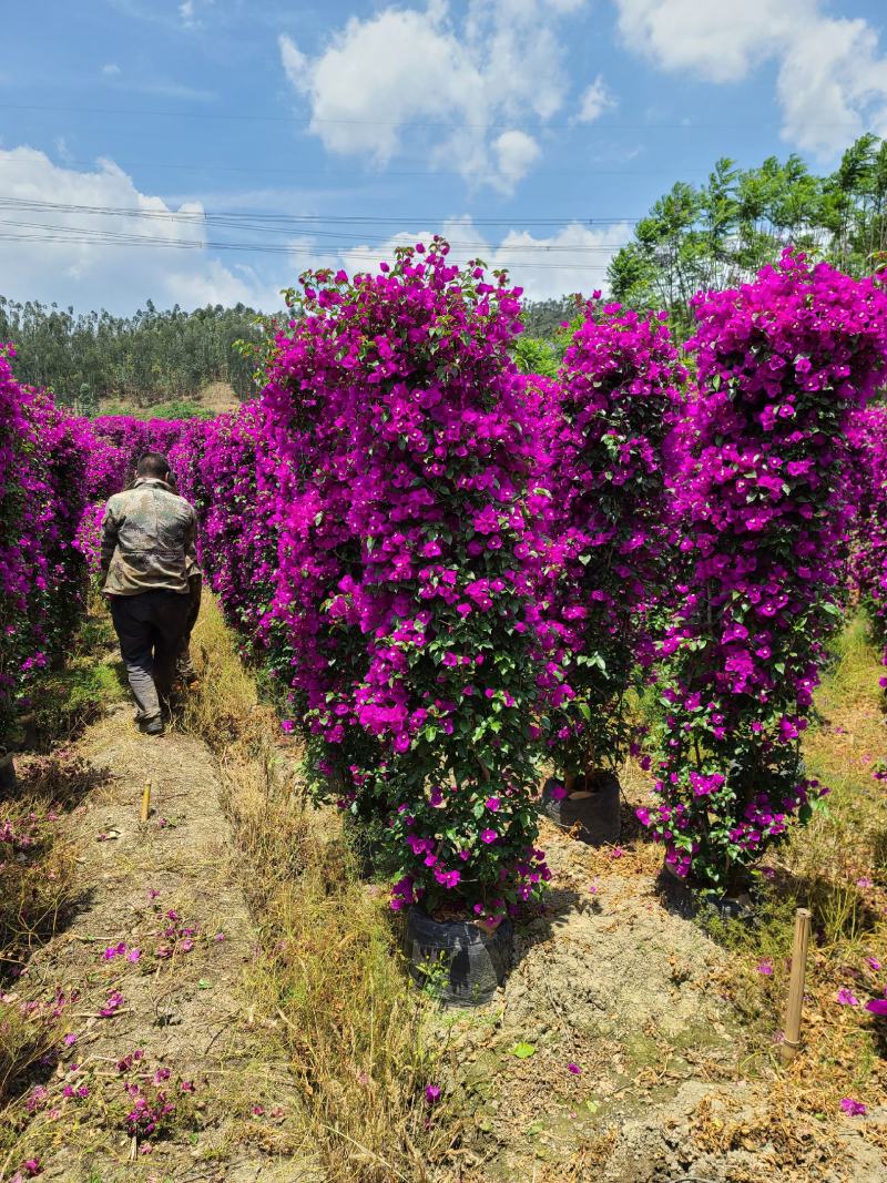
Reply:
[[725, 953], [668, 910], [649, 848], [594, 852], [548, 825], [540, 845], [555, 872], [545, 914], [517, 926], [496, 1002], [440, 1026], [464, 1120], [445, 1178], [882, 1183], [887, 1106], [869, 1108], [868, 1140], [849, 1118], [839, 1137], [773, 1125], [779, 1073], [747, 1069], [716, 984]]

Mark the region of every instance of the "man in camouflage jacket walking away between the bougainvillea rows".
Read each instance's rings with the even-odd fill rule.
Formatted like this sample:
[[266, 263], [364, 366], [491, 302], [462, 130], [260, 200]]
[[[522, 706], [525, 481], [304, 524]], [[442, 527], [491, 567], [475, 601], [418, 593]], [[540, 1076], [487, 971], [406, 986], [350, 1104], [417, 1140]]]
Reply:
[[198, 568], [193, 505], [170, 487], [169, 461], [141, 457], [135, 484], [108, 500], [102, 521], [101, 583], [127, 666], [136, 722], [163, 735], [176, 660], [193, 606]]

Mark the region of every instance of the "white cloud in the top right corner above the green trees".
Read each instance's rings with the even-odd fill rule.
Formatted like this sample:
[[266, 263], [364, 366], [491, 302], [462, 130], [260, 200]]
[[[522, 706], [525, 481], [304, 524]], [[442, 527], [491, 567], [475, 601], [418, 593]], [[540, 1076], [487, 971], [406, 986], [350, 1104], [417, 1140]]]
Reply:
[[616, 0], [626, 44], [671, 71], [739, 82], [777, 64], [783, 136], [829, 157], [866, 128], [887, 132], [887, 56], [865, 20], [823, 0]]

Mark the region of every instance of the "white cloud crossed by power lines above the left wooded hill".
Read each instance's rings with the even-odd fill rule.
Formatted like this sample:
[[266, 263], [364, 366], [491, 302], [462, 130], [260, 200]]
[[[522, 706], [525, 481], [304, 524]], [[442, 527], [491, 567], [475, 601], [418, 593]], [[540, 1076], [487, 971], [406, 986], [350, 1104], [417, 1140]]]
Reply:
[[[250, 267], [227, 267], [206, 247], [202, 206], [188, 202], [177, 213], [160, 198], [140, 193], [111, 161], [92, 172], [53, 164], [33, 148], [0, 149], [4, 205], [0, 206], [2, 293], [13, 299], [57, 300], [78, 309], [108, 308], [131, 312], [153, 299], [158, 306], [183, 308], [207, 302], [279, 305], [279, 297]], [[20, 202], [102, 206], [119, 213], [96, 215], [75, 209], [22, 208]], [[160, 216], [129, 216], [127, 212]], [[111, 235], [140, 235], [147, 243], [123, 244]], [[162, 247], [158, 240], [192, 243]], [[283, 269], [281, 269], [283, 272]]]

